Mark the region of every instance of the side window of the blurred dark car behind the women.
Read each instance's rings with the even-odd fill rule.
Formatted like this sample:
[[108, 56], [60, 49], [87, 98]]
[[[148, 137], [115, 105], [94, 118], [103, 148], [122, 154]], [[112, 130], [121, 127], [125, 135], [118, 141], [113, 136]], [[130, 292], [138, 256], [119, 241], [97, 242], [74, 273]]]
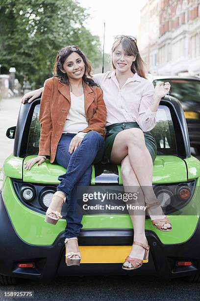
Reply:
[[170, 83], [170, 95], [178, 100], [200, 102], [200, 81], [190, 79], [157, 79], [153, 81], [153, 85], [155, 86], [160, 81]]

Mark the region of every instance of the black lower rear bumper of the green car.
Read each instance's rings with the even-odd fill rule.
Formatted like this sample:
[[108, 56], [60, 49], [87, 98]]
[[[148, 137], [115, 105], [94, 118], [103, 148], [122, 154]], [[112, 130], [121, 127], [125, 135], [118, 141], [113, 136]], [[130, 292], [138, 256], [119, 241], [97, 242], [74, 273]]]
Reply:
[[[179, 244], [163, 244], [153, 231], [146, 231], [150, 245], [149, 262], [140, 269], [125, 271], [122, 263], [112, 263], [113, 254], [95, 263], [82, 263], [79, 268], [67, 267], [65, 263], [64, 232], [50, 246], [28, 244], [19, 238], [0, 194], [0, 274], [6, 276], [48, 279], [68, 275], [157, 275], [170, 279], [190, 276], [200, 272], [200, 220], [190, 240]], [[82, 230], [78, 238], [80, 248], [109, 246], [119, 249], [132, 244], [130, 229], [88, 229]], [[117, 247], [118, 246], [118, 247]], [[109, 261], [110, 258], [110, 261]], [[92, 260], [91, 260], [92, 261]], [[192, 261], [192, 266], [177, 267], [177, 261]], [[33, 268], [19, 268], [19, 263], [33, 263]]]

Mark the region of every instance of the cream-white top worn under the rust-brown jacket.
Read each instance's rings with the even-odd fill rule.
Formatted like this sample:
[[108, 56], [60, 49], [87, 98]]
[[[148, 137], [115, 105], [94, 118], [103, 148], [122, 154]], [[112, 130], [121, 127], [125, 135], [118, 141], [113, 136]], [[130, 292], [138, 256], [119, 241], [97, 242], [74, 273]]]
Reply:
[[[70, 92], [70, 97], [71, 107], [63, 127], [63, 133], [67, 132], [77, 134], [79, 131], [88, 126], [87, 119], [85, 116], [84, 94], [82, 94], [81, 96], [75, 96], [75, 94]], [[83, 135], [83, 137], [84, 136], [85, 135]], [[81, 135], [81, 138], [83, 137]]]

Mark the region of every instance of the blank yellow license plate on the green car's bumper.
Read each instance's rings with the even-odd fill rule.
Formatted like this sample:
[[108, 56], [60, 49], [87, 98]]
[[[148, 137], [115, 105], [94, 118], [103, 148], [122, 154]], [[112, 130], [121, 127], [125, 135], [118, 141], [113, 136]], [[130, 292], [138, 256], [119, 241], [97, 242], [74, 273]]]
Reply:
[[[131, 245], [80, 245], [80, 263], [124, 263], [128, 256]], [[143, 263], [147, 263], [143, 260]]]

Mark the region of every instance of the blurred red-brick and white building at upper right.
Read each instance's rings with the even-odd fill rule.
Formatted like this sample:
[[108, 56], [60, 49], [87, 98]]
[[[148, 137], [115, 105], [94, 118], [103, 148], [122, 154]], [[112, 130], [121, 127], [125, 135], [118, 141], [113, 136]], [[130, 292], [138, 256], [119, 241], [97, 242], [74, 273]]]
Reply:
[[138, 46], [151, 74], [200, 74], [200, 0], [149, 0], [139, 32]]

